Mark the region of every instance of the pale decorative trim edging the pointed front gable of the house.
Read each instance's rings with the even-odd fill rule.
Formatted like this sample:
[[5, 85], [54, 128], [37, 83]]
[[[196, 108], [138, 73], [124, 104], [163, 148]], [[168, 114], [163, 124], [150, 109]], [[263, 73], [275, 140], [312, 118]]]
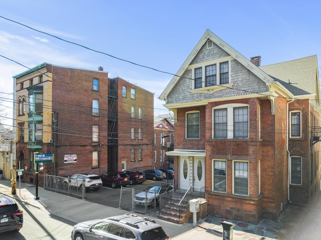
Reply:
[[250, 60], [245, 58], [242, 54], [237, 52], [235, 49], [233, 49], [231, 46], [229, 46], [227, 43], [225, 43], [222, 39], [220, 39], [215, 34], [213, 34], [210, 30], [207, 29], [205, 34], [201, 38], [201, 40], [198, 42], [198, 44], [193, 49], [192, 53], [189, 55], [189, 57], [183, 63], [182, 67], [179, 69], [179, 71], [173, 77], [171, 82], [167, 85], [165, 90], [162, 92], [161, 96], [159, 96], [160, 100], [166, 100], [168, 94], [173, 90], [173, 88], [175, 87], [177, 82], [180, 80], [181, 76], [184, 75], [188, 66], [191, 64], [191, 62], [193, 61], [193, 59], [195, 58], [195, 56], [197, 55], [199, 50], [202, 48], [202, 46], [206, 43], [206, 41], [208, 39], [212, 40], [216, 45], [218, 45], [225, 52], [227, 52], [229, 55], [231, 55], [234, 59], [236, 59], [238, 62], [240, 62], [243, 66], [245, 66], [249, 71], [251, 71], [253, 74], [255, 74], [258, 78], [260, 78], [262, 81], [264, 81], [266, 85], [270, 85], [270, 84], [274, 83], [273, 78], [268, 76], [261, 69], [259, 69], [253, 63], [251, 63]]

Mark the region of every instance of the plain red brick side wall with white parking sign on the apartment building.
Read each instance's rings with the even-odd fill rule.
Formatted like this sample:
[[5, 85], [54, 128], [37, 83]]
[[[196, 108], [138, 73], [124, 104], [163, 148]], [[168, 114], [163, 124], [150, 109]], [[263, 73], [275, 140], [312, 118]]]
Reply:
[[[100, 174], [107, 168], [107, 73], [55, 66], [52, 73], [52, 109], [58, 121], [57, 175]], [[99, 80], [99, 91], [92, 90], [93, 78]], [[93, 99], [99, 101], [99, 116], [92, 115]], [[99, 142], [92, 141], [93, 125], [99, 126]], [[98, 168], [92, 168], [92, 151], [99, 151]], [[76, 154], [77, 162], [64, 163], [66, 154]]]

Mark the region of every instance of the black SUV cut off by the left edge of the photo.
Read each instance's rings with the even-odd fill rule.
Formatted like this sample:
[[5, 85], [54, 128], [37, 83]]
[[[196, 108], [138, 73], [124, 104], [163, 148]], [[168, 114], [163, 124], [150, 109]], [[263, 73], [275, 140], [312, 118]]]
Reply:
[[19, 231], [24, 222], [23, 211], [6, 195], [0, 195], [0, 232]]

